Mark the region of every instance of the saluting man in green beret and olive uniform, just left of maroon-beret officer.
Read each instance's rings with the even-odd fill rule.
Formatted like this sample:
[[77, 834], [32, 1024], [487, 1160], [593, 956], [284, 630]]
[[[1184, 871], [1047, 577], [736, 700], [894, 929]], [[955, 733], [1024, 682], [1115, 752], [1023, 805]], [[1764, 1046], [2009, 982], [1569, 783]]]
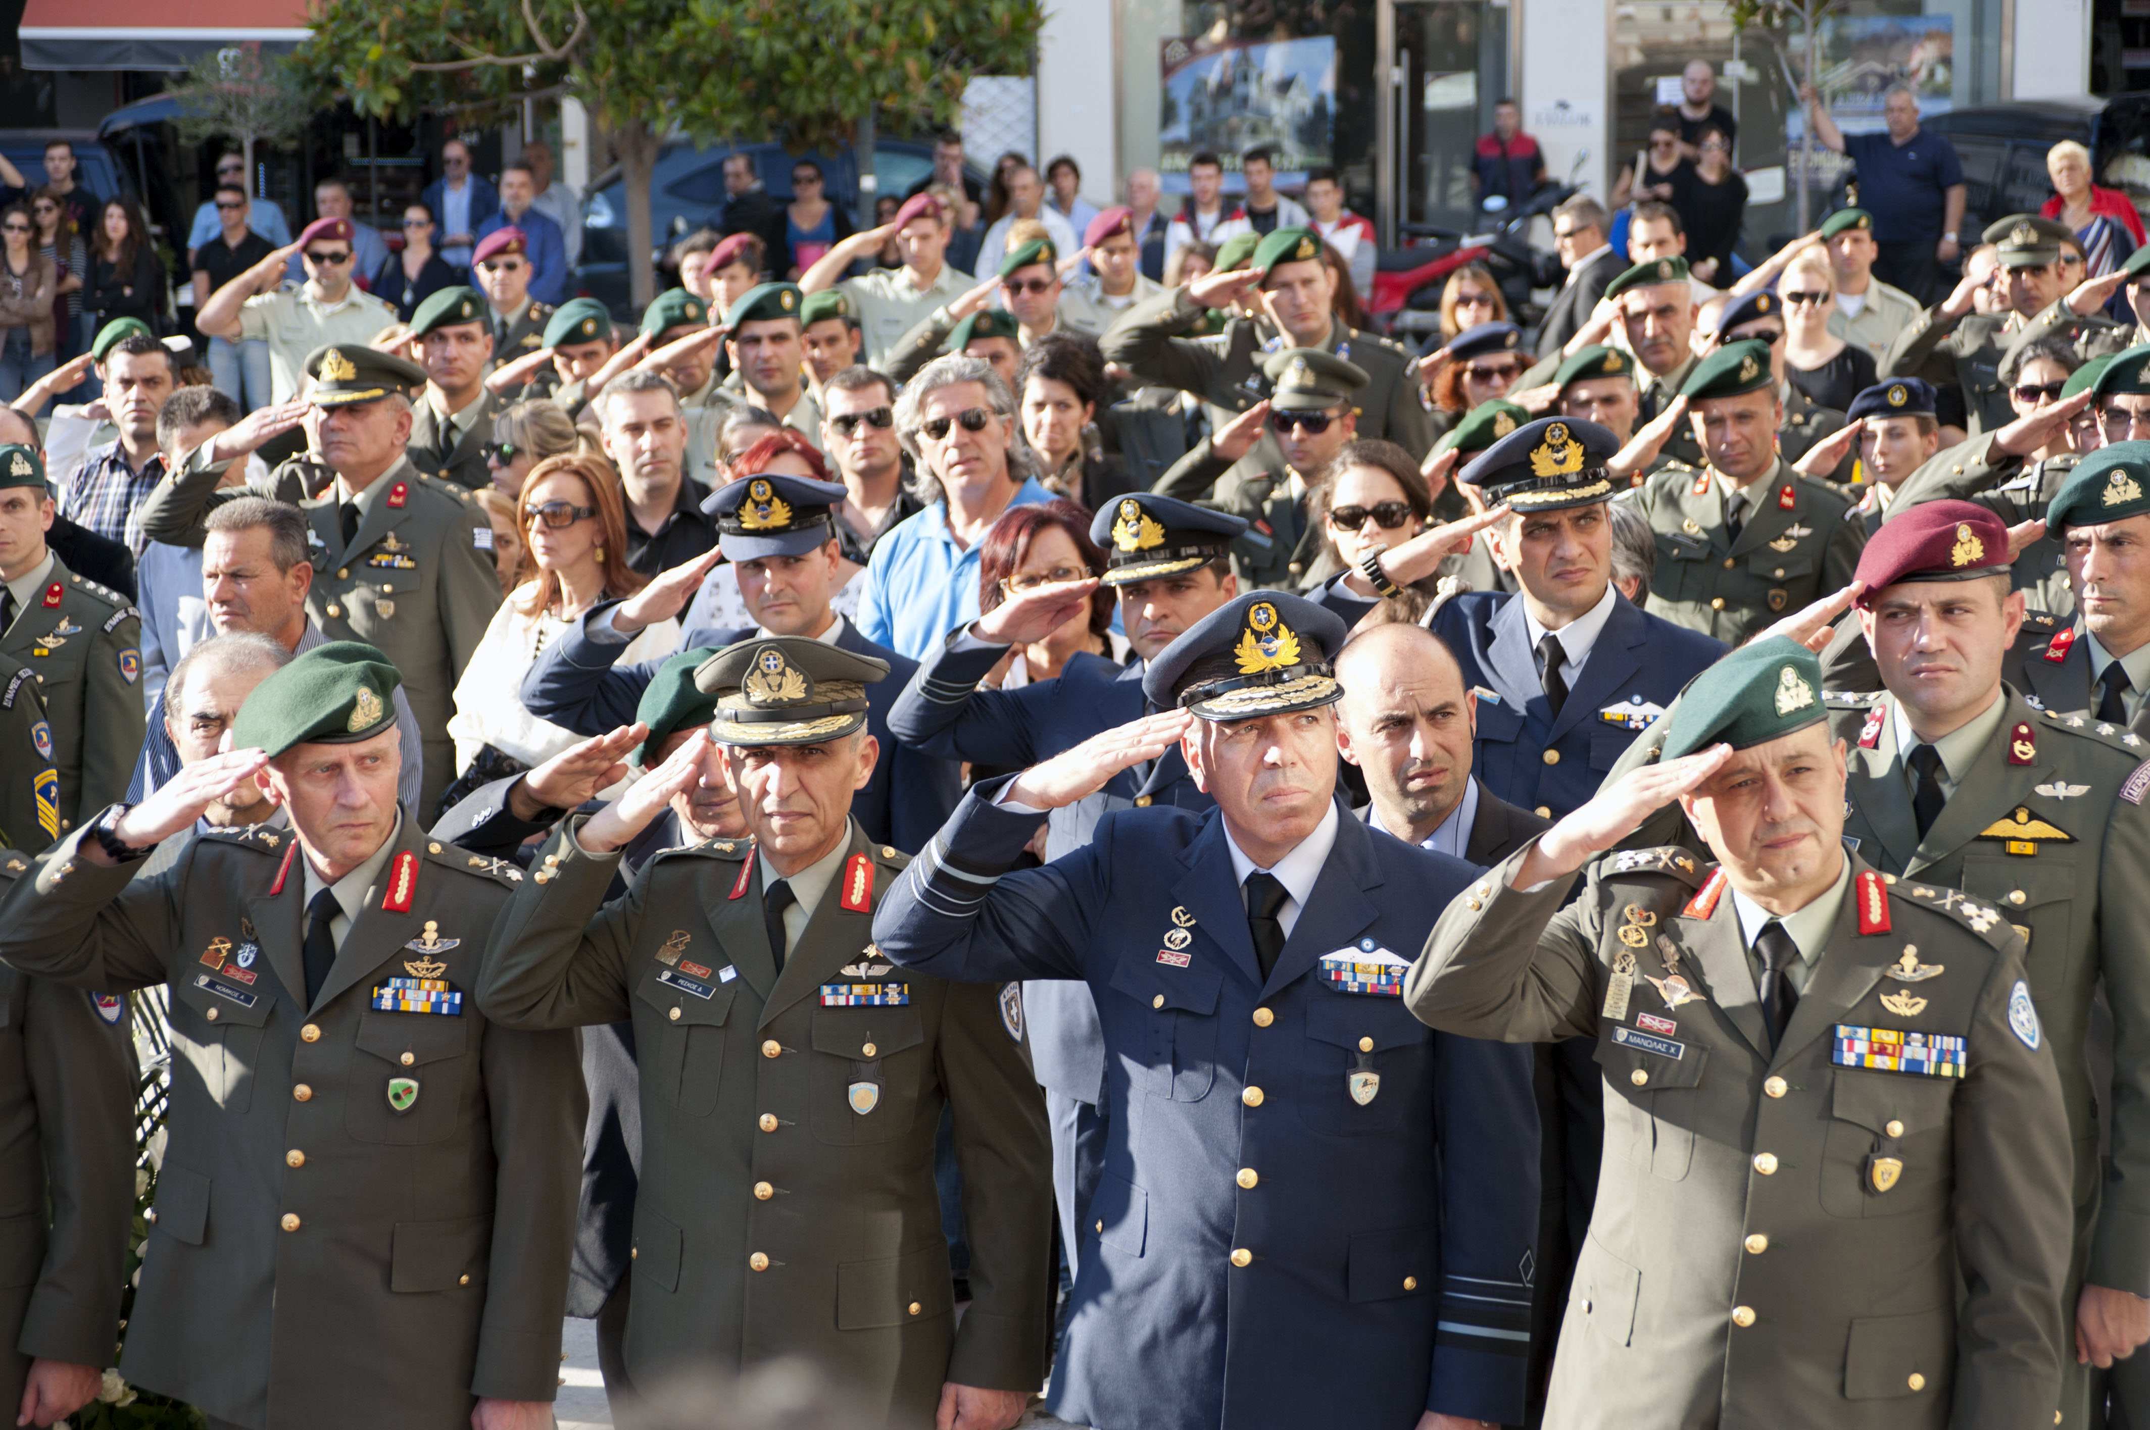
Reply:
[[1645, 609], [1737, 645], [1847, 585], [1866, 531], [1845, 520], [1849, 497], [1778, 456], [1782, 402], [1765, 344], [1718, 348], [1681, 396], [1709, 462], [1660, 467], [1632, 497], [1658, 533]]

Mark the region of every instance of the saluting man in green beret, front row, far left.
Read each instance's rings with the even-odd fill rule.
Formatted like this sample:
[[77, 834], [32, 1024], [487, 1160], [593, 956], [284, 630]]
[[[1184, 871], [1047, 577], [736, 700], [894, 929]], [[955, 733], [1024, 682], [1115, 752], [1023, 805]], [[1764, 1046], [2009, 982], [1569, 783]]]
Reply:
[[[123, 1372], [219, 1428], [550, 1424], [574, 1041], [471, 1006], [512, 882], [398, 806], [393, 690], [368, 645], [310, 649], [254, 688], [232, 753], [108, 809], [0, 905], [26, 974], [170, 985], [170, 1150]], [[213, 830], [135, 880], [247, 781], [288, 830]]]

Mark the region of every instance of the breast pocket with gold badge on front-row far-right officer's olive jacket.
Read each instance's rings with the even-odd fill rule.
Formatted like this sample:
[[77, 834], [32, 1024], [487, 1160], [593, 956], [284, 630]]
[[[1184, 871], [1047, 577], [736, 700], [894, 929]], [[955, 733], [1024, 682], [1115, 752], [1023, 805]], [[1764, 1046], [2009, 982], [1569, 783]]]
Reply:
[[1905, 1217], [1948, 1206], [1954, 1077], [1832, 1069], [1821, 1142], [1821, 1211]]

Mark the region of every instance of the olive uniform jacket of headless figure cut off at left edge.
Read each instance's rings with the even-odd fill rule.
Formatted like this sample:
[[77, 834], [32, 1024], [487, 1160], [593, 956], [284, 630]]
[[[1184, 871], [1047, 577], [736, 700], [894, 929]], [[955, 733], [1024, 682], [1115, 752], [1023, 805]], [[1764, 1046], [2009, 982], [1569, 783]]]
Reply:
[[[30, 867], [0, 854], [0, 897]], [[125, 998], [0, 963], [0, 1406], [32, 1359], [112, 1363], [138, 1075]]]

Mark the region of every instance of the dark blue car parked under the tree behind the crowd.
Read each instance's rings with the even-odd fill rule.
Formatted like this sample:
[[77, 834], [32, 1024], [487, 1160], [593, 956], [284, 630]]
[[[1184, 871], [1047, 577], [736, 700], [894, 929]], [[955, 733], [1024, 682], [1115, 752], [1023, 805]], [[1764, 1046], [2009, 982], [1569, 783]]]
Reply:
[[[793, 155], [783, 144], [710, 144], [673, 140], [658, 153], [649, 183], [649, 230], [656, 256], [703, 224], [714, 226], [725, 209], [725, 157], [752, 155], [755, 174], [776, 206], [791, 202], [791, 166], [813, 159], [828, 178], [830, 202], [843, 204], [860, 228], [871, 228], [873, 206], [860, 213], [858, 161], [849, 148], [836, 155]], [[985, 181], [985, 172], [968, 166]], [[879, 194], [903, 194], [933, 172], [933, 144], [924, 140], [879, 140], [873, 146], [873, 176]], [[654, 256], [654, 258], [656, 258]], [[583, 262], [574, 271], [576, 292], [600, 299], [615, 316], [632, 316], [628, 297], [628, 200], [617, 166], [591, 181], [583, 200]], [[658, 282], [664, 286], [664, 280]]]

